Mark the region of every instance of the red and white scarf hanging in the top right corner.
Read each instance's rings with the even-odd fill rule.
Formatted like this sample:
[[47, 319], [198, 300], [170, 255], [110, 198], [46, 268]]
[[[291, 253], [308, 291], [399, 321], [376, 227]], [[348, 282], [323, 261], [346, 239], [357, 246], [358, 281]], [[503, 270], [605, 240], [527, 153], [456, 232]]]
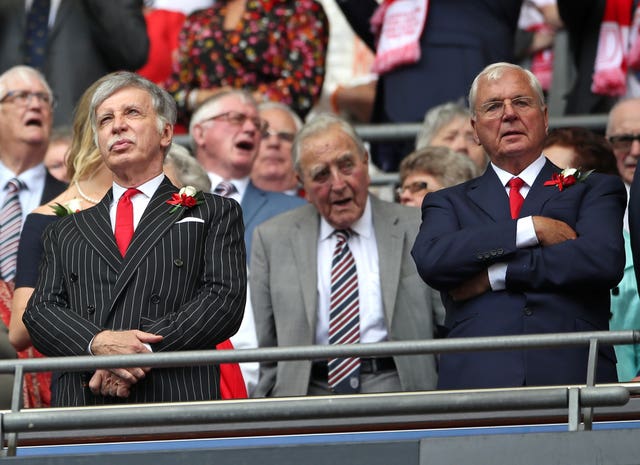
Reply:
[[622, 96], [627, 91], [627, 69], [640, 69], [640, 7], [633, 0], [607, 0], [593, 73], [594, 94]]

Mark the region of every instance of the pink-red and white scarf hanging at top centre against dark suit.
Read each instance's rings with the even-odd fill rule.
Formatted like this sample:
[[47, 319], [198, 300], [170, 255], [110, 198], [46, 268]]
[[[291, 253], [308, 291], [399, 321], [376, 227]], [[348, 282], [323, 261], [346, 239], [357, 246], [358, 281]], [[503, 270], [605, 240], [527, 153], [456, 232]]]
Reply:
[[429, 0], [384, 0], [371, 17], [377, 38], [372, 71], [383, 74], [420, 59], [420, 35]]

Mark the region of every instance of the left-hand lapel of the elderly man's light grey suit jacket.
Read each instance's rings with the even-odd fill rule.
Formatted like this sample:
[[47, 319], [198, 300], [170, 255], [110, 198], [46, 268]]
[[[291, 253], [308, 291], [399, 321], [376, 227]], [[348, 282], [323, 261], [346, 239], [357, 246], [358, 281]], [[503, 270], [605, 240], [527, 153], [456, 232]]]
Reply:
[[317, 320], [318, 295], [318, 234], [320, 219], [315, 208], [309, 207], [309, 216], [299, 220], [291, 237], [295, 269], [302, 289], [307, 321], [313, 337]]

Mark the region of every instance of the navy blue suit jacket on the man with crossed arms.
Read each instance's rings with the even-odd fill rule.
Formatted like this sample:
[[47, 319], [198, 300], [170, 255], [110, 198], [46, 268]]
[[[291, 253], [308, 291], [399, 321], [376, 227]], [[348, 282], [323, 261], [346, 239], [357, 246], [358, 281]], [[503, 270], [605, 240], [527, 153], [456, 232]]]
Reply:
[[[609, 290], [622, 278], [626, 193], [615, 176], [591, 174], [559, 191], [544, 186], [549, 161], [520, 217], [564, 221], [575, 240], [516, 247], [516, 221], [495, 171], [427, 195], [412, 254], [422, 278], [442, 293], [447, 337], [607, 330]], [[507, 263], [506, 290], [454, 302], [448, 291], [494, 263]], [[597, 380], [615, 382], [615, 355], [600, 349]], [[584, 383], [587, 348], [442, 354], [439, 388]]]

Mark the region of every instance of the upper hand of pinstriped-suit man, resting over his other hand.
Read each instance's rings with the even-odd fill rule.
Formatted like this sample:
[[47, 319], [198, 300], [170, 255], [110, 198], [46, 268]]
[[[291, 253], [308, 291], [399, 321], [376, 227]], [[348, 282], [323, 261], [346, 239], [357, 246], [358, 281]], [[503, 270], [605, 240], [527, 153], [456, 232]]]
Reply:
[[[137, 329], [129, 331], [102, 331], [96, 334], [91, 343], [94, 355], [126, 355], [150, 352], [144, 345], [162, 341], [162, 336], [145, 333]], [[112, 368], [109, 371], [130, 385], [143, 379], [150, 368]]]

